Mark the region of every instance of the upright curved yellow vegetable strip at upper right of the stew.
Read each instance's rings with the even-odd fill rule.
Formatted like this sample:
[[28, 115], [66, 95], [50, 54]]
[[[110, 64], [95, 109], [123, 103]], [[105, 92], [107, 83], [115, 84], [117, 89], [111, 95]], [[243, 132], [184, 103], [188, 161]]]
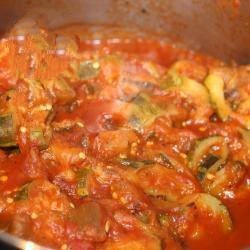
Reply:
[[224, 97], [223, 79], [218, 75], [210, 74], [204, 84], [209, 91], [210, 100], [215, 106], [218, 116], [222, 121], [228, 120], [231, 110]]

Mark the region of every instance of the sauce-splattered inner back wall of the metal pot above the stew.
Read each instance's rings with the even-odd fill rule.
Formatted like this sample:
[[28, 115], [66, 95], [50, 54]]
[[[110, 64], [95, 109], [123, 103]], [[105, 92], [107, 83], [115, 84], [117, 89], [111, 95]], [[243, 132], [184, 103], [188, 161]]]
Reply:
[[51, 27], [137, 27], [225, 61], [248, 63], [249, 13], [250, 0], [0, 0], [0, 29], [9, 29], [24, 15], [46, 16]]

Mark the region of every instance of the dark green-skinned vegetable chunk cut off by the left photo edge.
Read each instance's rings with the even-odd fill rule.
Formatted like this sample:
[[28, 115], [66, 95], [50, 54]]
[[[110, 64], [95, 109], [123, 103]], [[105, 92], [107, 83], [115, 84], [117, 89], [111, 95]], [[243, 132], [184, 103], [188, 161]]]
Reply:
[[0, 115], [0, 147], [15, 147], [16, 127], [12, 114]]

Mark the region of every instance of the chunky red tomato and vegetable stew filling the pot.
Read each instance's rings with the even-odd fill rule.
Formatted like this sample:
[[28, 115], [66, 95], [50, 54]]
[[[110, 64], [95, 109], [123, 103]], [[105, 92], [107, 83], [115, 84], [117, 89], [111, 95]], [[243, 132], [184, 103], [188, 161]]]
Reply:
[[249, 66], [107, 29], [2, 39], [1, 229], [55, 249], [249, 248]]

